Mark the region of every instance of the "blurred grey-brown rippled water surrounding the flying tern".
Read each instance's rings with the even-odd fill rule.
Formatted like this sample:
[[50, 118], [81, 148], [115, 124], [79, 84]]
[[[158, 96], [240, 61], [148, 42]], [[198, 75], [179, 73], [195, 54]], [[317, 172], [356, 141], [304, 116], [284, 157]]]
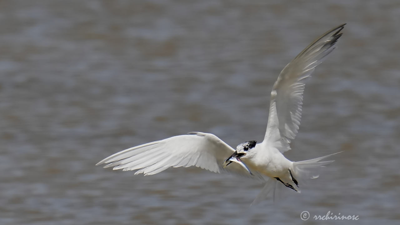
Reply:
[[[398, 224], [400, 2], [0, 2], [0, 224]], [[306, 86], [289, 159], [338, 151], [281, 204], [198, 168], [94, 164], [190, 131], [262, 141], [280, 70], [347, 22]]]

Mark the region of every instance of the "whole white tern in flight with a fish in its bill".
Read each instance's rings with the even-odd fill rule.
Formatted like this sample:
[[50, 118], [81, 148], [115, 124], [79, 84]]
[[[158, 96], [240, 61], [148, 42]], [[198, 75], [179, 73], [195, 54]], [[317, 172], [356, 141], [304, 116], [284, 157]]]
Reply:
[[297, 162], [283, 155], [298, 133], [306, 78], [332, 52], [344, 25], [317, 38], [280, 72], [271, 91], [267, 129], [261, 143], [247, 141], [235, 150], [213, 134], [190, 132], [120, 151], [96, 165], [105, 163], [104, 168], [138, 170], [135, 175], [145, 176], [169, 167], [190, 166], [244, 175], [265, 183], [253, 204], [265, 199], [278, 185], [299, 191], [299, 181], [318, 177], [311, 170], [332, 163], [323, 159], [337, 154]]

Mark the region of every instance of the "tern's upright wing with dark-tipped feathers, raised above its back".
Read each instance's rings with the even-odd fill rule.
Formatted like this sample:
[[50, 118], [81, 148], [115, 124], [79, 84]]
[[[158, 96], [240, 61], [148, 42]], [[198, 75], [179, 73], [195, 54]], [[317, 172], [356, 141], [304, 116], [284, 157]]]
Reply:
[[332, 50], [342, 36], [342, 24], [323, 34], [305, 48], [280, 72], [271, 91], [268, 125], [263, 143], [279, 149], [290, 149], [298, 133], [305, 80]]

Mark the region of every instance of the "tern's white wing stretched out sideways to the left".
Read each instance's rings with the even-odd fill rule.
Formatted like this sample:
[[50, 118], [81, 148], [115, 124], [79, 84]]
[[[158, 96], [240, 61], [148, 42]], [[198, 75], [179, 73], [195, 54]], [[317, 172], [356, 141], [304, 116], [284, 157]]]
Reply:
[[[138, 170], [135, 174], [153, 175], [169, 167], [196, 166], [220, 173], [228, 171], [237, 175], [251, 175], [237, 163], [223, 168], [224, 161], [234, 153], [234, 149], [213, 134], [191, 132], [188, 135], [170, 137], [115, 153], [96, 165], [106, 163], [106, 167]], [[262, 179], [258, 173], [254, 178]]]

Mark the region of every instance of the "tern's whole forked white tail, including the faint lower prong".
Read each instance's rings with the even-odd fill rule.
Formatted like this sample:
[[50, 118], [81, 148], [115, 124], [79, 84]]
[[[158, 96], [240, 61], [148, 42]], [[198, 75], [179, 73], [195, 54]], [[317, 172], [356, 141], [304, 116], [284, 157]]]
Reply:
[[[341, 152], [338, 152], [341, 153]], [[338, 153], [326, 155], [323, 157], [319, 157], [316, 159], [309, 159], [305, 161], [293, 162], [293, 177], [298, 181], [299, 185], [306, 183], [308, 179], [315, 179], [319, 177], [319, 172], [321, 167], [325, 167], [329, 163], [334, 162], [334, 160], [330, 161], [322, 161], [332, 155], [336, 155]], [[294, 185], [294, 183], [293, 183]], [[300, 193], [300, 190], [297, 193]], [[276, 202], [277, 199], [281, 199], [285, 195], [282, 194], [285, 191], [292, 191], [285, 187], [282, 183], [277, 181], [276, 179], [268, 179], [268, 181], [264, 184], [264, 188], [257, 195], [256, 199], [254, 199], [252, 205], [257, 205], [261, 201], [265, 200], [269, 194], [272, 195], [273, 201]]]

